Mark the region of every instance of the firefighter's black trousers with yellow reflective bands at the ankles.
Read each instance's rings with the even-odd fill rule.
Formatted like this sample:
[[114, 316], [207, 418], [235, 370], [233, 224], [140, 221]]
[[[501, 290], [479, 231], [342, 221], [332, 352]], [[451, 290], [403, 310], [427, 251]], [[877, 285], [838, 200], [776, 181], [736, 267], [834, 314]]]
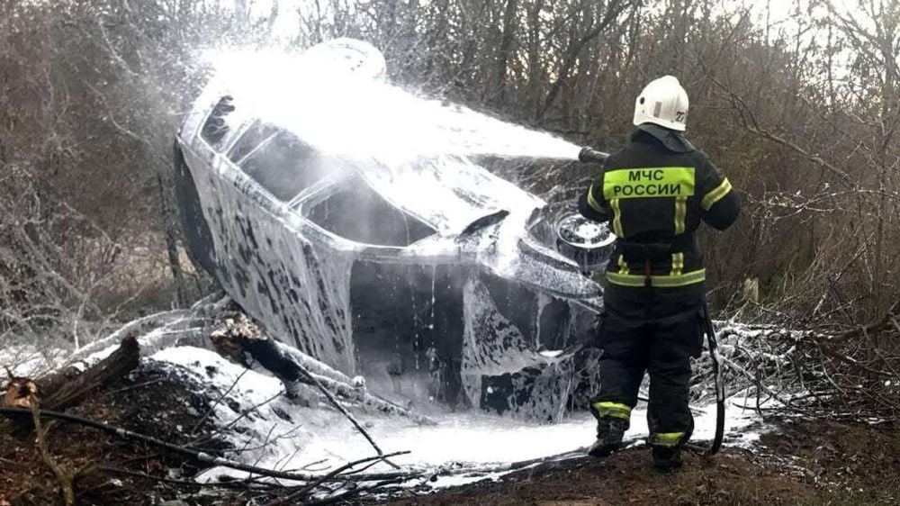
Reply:
[[[650, 374], [650, 442], [680, 447], [694, 427], [688, 407], [690, 357], [703, 348], [703, 284], [677, 289], [608, 286], [600, 316], [600, 392], [591, 409], [602, 420], [629, 420]], [[604, 424], [599, 424], [603, 427]]]

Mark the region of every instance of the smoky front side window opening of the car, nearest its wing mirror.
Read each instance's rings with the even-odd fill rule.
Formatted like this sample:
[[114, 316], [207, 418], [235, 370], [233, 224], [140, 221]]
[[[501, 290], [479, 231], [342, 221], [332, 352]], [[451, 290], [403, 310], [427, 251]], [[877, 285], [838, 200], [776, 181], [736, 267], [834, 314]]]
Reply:
[[436, 233], [402, 212], [359, 177], [304, 212], [306, 218], [345, 239], [378, 246], [409, 246]]

